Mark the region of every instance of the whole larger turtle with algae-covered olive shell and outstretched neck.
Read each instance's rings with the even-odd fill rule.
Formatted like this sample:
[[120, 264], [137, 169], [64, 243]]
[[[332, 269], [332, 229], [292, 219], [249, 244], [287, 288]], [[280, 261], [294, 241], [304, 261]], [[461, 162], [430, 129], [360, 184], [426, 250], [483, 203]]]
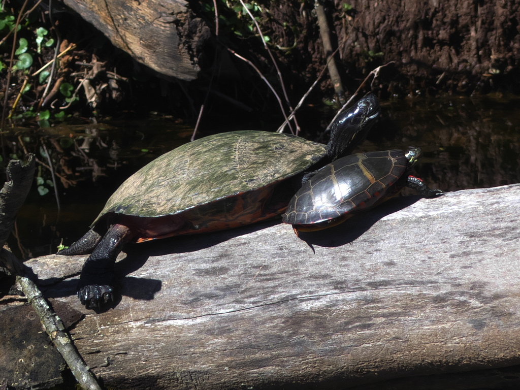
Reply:
[[369, 95], [331, 126], [328, 145], [239, 131], [198, 139], [142, 167], [116, 190], [91, 229], [63, 255], [90, 254], [77, 295], [88, 308], [113, 301], [114, 263], [127, 242], [235, 228], [283, 213], [319, 168], [346, 155], [380, 115]]

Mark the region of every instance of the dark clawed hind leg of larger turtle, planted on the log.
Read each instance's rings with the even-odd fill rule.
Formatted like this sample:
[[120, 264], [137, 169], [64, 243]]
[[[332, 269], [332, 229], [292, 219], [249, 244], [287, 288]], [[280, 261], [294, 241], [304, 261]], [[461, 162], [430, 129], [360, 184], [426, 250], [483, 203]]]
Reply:
[[124, 225], [112, 225], [88, 256], [77, 285], [77, 296], [87, 308], [101, 309], [113, 301], [114, 264], [124, 244], [133, 237]]

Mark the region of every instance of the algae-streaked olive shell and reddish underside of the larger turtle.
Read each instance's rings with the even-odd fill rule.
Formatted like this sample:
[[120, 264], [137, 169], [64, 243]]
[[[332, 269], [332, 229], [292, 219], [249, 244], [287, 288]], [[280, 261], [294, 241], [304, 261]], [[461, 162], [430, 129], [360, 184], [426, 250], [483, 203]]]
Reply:
[[325, 154], [325, 145], [287, 134], [238, 131], [201, 138], [129, 177], [92, 226], [108, 218], [145, 241], [280, 215], [294, 191], [274, 196], [277, 186]]

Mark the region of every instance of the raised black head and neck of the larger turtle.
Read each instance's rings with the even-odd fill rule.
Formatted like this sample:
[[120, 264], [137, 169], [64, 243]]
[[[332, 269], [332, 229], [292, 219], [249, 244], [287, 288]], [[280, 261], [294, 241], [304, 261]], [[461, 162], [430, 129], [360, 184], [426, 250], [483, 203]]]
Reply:
[[381, 114], [378, 98], [370, 94], [342, 112], [330, 126], [327, 155], [330, 161], [352, 151], [367, 137]]

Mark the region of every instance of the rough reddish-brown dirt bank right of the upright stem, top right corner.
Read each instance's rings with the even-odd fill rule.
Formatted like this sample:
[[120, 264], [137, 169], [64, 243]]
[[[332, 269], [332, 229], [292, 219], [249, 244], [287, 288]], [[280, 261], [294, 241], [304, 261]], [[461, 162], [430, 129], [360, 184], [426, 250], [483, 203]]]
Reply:
[[520, 91], [520, 3], [353, 0], [349, 5], [334, 21], [347, 68], [395, 61], [400, 75], [395, 92], [488, 92], [506, 86]]

